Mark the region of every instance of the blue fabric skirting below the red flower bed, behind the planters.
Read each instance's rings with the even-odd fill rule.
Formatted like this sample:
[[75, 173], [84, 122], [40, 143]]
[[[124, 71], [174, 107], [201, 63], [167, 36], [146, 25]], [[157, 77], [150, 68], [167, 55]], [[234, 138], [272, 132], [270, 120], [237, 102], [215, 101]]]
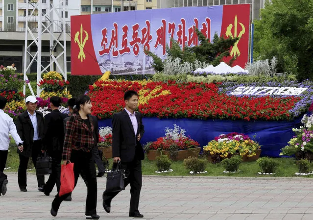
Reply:
[[[262, 156], [278, 157], [280, 149], [288, 145], [294, 135], [293, 127], [301, 125], [302, 116], [293, 121], [255, 121], [247, 122], [242, 120], [196, 120], [196, 119], [159, 119], [143, 118], [144, 137], [141, 143], [156, 141], [157, 138], [165, 135], [165, 128], [173, 128], [177, 124], [185, 129], [186, 135], [203, 147], [220, 134], [238, 132], [249, 135], [251, 139], [256, 135], [260, 143]], [[99, 127], [111, 126], [112, 119], [99, 120]]]

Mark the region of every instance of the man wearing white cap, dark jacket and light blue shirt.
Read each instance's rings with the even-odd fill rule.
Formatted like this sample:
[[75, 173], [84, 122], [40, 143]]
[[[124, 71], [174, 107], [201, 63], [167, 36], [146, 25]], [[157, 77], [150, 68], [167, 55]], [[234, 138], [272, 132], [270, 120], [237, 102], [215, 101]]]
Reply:
[[[18, 182], [21, 192], [27, 192], [26, 189], [26, 169], [29, 157], [32, 158], [36, 168], [37, 157], [41, 155], [42, 137], [44, 130], [44, 116], [36, 111], [37, 99], [28, 96], [25, 99], [27, 110], [19, 115], [17, 120], [17, 130], [23, 143], [23, 148], [18, 149], [20, 154], [20, 165], [18, 170]], [[38, 190], [42, 190], [45, 185], [45, 176], [37, 174]]]

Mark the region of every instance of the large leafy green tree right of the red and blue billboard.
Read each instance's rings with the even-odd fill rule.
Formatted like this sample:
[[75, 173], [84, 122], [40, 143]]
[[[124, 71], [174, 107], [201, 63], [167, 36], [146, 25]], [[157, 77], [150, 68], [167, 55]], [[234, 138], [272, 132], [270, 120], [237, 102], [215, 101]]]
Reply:
[[278, 72], [313, 78], [313, 0], [268, 0], [255, 21], [254, 57], [278, 58]]

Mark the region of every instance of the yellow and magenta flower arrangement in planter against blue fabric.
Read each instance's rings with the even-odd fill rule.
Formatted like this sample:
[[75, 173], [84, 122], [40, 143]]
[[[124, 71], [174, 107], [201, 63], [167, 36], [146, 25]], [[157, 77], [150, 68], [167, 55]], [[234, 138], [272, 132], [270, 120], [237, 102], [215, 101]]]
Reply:
[[240, 133], [221, 134], [203, 147], [203, 152], [212, 163], [233, 155], [241, 155], [243, 161], [255, 161], [260, 157], [260, 145], [249, 136]]

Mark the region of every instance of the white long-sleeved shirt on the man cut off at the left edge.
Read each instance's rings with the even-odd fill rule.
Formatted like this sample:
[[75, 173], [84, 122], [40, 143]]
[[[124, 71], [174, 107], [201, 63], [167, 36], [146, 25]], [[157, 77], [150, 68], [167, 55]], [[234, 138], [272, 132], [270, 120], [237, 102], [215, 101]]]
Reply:
[[0, 150], [8, 150], [10, 145], [9, 133], [13, 137], [16, 145], [22, 144], [22, 140], [17, 133], [13, 119], [2, 109], [0, 109]]

